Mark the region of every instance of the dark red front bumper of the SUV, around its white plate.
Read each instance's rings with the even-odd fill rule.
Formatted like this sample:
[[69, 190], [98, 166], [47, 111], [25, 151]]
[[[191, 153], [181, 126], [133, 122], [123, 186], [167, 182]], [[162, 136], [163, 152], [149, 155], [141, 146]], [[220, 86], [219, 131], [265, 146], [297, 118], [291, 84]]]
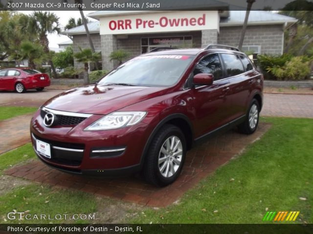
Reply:
[[[50, 167], [75, 174], [115, 176], [139, 171], [149, 126], [140, 122], [116, 130], [83, 131], [100, 117], [93, 115], [72, 127], [48, 128], [38, 111], [30, 125], [37, 156]], [[50, 145], [51, 158], [37, 151], [37, 140]]]

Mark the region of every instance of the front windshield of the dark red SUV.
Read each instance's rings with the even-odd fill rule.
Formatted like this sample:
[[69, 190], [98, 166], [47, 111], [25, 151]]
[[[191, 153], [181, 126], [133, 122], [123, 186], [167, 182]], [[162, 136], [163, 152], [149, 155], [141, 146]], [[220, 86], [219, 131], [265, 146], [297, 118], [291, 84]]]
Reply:
[[167, 87], [178, 82], [194, 59], [186, 55], [149, 55], [129, 60], [99, 81], [103, 85]]

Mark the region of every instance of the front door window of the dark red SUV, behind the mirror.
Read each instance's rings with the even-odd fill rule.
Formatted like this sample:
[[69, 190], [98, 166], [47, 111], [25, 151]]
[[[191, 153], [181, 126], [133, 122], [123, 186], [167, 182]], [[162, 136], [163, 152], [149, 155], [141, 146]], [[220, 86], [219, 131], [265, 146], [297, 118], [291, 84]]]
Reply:
[[223, 78], [223, 70], [218, 54], [209, 55], [202, 59], [197, 64], [194, 75], [199, 73], [213, 74], [214, 80]]

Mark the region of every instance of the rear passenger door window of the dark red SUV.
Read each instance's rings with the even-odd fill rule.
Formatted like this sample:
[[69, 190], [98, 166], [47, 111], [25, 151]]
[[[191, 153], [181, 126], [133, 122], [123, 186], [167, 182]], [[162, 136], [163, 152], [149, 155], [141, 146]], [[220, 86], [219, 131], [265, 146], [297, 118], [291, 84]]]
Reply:
[[244, 73], [244, 67], [237, 55], [221, 54], [224, 60], [227, 77], [233, 77]]

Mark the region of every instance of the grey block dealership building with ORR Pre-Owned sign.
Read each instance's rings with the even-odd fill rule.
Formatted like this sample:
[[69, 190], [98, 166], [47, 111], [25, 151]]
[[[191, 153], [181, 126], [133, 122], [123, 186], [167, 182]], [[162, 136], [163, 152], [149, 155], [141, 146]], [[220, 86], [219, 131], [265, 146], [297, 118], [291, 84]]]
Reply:
[[[102, 53], [102, 67], [111, 70], [112, 51], [123, 49], [131, 57], [157, 47], [204, 47], [207, 44], [238, 46], [246, 11], [228, 6], [181, 11], [96, 11], [88, 17], [95, 50]], [[251, 11], [243, 51], [258, 54], [283, 53], [284, 31], [297, 20], [267, 11]], [[84, 25], [63, 32], [73, 39], [73, 51], [88, 48]], [[75, 61], [75, 67], [83, 67]]]

